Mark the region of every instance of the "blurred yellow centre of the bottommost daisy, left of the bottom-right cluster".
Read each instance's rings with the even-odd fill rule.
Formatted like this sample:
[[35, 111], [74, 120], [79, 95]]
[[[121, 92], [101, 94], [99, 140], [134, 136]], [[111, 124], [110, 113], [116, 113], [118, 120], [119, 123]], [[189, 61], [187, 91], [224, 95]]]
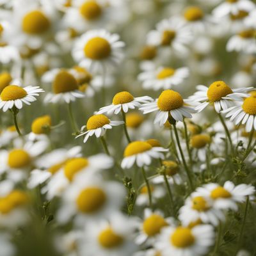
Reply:
[[99, 244], [107, 249], [120, 246], [124, 242], [124, 238], [116, 234], [111, 227], [102, 230], [98, 236]]

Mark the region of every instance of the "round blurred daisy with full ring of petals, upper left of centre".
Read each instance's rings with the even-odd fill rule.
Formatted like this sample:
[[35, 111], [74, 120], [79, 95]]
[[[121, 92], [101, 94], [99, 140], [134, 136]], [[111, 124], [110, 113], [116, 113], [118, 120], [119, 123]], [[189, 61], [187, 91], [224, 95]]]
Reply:
[[108, 70], [119, 65], [123, 58], [125, 44], [119, 38], [104, 29], [87, 31], [77, 39], [72, 56], [81, 67], [100, 72]]

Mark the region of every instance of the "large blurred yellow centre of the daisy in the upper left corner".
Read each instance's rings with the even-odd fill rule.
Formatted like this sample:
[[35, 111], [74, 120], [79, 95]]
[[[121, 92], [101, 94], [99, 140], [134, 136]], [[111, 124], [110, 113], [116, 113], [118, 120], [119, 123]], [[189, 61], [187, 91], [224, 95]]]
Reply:
[[50, 20], [39, 10], [27, 13], [22, 19], [23, 31], [31, 35], [44, 33], [50, 25]]

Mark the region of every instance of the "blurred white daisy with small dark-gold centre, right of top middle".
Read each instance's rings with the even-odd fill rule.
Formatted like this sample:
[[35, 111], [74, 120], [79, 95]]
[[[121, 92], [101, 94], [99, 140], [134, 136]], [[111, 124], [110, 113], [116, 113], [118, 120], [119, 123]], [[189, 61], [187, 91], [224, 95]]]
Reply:
[[184, 26], [184, 22], [177, 18], [162, 20], [147, 35], [147, 44], [156, 46], [168, 46], [174, 52], [186, 54], [188, 44], [192, 40], [191, 31]]

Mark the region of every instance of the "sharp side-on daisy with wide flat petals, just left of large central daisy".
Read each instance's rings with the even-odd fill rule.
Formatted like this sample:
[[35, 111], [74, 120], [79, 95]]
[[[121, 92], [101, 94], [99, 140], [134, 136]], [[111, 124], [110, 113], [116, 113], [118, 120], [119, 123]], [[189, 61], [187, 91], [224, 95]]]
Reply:
[[100, 108], [98, 114], [115, 113], [115, 115], [117, 115], [120, 111], [127, 113], [129, 109], [140, 108], [141, 103], [148, 103], [152, 100], [153, 99], [148, 96], [134, 98], [129, 92], [118, 92], [113, 97], [113, 103], [109, 106]]

